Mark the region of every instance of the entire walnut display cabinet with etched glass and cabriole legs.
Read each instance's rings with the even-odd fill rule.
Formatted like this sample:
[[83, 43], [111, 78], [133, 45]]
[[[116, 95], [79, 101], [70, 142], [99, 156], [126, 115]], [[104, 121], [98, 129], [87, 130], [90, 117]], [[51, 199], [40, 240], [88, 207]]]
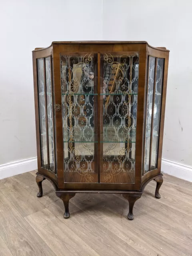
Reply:
[[33, 52], [38, 197], [118, 193], [128, 219], [148, 182], [160, 198], [169, 51], [147, 42], [53, 42]]

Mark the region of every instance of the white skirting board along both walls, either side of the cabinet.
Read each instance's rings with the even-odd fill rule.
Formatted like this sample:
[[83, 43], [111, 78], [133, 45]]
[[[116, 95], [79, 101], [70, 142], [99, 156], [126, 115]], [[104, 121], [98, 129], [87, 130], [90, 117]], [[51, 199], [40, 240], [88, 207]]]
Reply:
[[[0, 165], [0, 180], [37, 169], [37, 158], [31, 157]], [[192, 166], [162, 159], [162, 173], [192, 182]]]

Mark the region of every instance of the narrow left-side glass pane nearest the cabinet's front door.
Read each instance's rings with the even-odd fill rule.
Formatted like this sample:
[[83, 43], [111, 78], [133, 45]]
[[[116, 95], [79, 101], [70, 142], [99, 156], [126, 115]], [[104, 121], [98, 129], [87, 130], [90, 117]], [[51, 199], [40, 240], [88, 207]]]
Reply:
[[51, 57], [45, 58], [46, 66], [46, 96], [47, 96], [47, 120], [48, 120], [48, 145], [49, 145], [49, 169], [55, 170], [54, 156], [54, 117], [52, 104], [52, 80], [51, 80]]

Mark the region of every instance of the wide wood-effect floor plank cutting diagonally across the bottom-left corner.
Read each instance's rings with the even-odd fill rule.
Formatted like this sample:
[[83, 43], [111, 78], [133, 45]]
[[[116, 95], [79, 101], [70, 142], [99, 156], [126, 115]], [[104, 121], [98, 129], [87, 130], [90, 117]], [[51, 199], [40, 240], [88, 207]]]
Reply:
[[0, 236], [13, 256], [56, 256], [2, 192]]

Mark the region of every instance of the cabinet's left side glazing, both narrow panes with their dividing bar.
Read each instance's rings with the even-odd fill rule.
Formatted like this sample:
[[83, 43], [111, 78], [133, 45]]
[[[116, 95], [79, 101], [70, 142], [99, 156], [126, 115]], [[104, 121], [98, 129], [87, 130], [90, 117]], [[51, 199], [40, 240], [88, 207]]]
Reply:
[[56, 172], [51, 57], [37, 60], [42, 168]]

